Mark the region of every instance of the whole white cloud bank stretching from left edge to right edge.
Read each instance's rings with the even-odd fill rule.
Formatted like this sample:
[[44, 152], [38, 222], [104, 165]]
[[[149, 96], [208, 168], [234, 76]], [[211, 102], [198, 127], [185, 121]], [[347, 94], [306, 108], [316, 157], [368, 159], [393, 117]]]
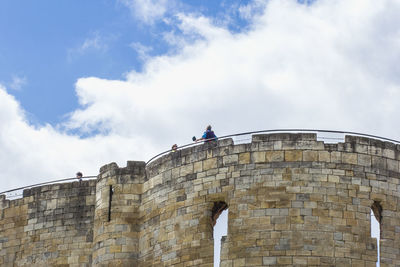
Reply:
[[86, 139], [30, 126], [2, 89], [2, 168], [20, 179], [6, 185], [147, 160], [190, 142], [208, 124], [218, 135], [326, 128], [400, 139], [399, 12], [395, 0], [275, 0], [238, 34], [180, 14], [185, 36], [201, 38], [171, 33], [182, 40], [177, 52], [148, 57], [126, 80], [77, 81], [81, 108], [64, 126], [100, 131]]

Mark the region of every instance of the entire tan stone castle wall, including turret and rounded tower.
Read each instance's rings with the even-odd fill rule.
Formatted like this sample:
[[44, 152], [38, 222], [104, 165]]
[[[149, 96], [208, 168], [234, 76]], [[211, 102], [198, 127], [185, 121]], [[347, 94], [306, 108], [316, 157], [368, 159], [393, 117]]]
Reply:
[[[221, 267], [375, 266], [371, 208], [380, 219], [381, 266], [400, 266], [399, 161], [398, 145], [374, 139], [324, 144], [315, 134], [269, 134], [178, 150], [147, 166], [108, 164], [78, 187], [87, 188], [87, 217], [63, 213], [58, 228], [38, 218], [66, 209], [71, 200], [62, 194], [3, 199], [0, 263], [211, 267], [212, 210], [224, 202]], [[66, 233], [83, 249], [56, 238]], [[54, 246], [61, 250], [47, 251]]]

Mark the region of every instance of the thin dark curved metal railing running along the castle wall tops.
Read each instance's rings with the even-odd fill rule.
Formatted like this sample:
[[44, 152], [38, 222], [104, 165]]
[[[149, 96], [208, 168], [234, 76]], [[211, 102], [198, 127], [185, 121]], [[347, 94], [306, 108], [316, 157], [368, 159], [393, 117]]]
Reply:
[[[372, 135], [372, 134], [363, 134], [363, 133], [357, 133], [357, 132], [347, 132], [347, 131], [336, 131], [336, 130], [319, 130], [319, 129], [274, 129], [274, 130], [260, 130], [260, 131], [252, 131], [252, 132], [243, 132], [243, 133], [237, 133], [237, 134], [230, 134], [230, 135], [224, 135], [224, 136], [220, 136], [218, 137], [218, 140], [221, 139], [227, 139], [227, 138], [232, 138], [232, 137], [238, 137], [238, 136], [245, 136], [245, 135], [253, 135], [253, 134], [262, 134], [262, 133], [329, 133], [329, 134], [343, 134], [343, 135], [354, 135], [354, 136], [361, 136], [361, 137], [368, 137], [368, 138], [375, 138], [375, 139], [379, 139], [382, 141], [389, 141], [392, 143], [396, 143], [396, 144], [400, 144], [400, 141], [398, 140], [394, 140], [394, 139], [390, 139], [390, 138], [385, 138], [385, 137], [381, 137], [381, 136], [377, 136], [377, 135]], [[330, 138], [330, 137], [323, 137], [323, 136], [318, 136], [319, 139], [335, 139], [335, 140], [343, 140], [343, 138]], [[179, 146], [177, 149], [182, 149], [185, 147], [191, 147], [191, 146], [195, 146], [198, 145], [204, 141], [207, 140], [202, 140], [201, 142], [193, 142], [193, 143], [189, 143], [183, 146]], [[164, 152], [161, 152], [157, 155], [155, 155], [154, 157], [150, 158], [147, 162], [146, 165], [149, 164], [151, 161], [155, 160], [156, 158], [159, 158], [163, 155], [166, 155], [168, 153], [170, 153], [171, 150], [166, 150]], [[84, 176], [82, 177], [82, 179], [93, 179], [96, 178], [97, 176]], [[59, 179], [59, 180], [53, 180], [53, 181], [48, 181], [48, 182], [44, 182], [44, 183], [39, 183], [39, 184], [33, 184], [33, 185], [28, 185], [28, 186], [24, 186], [24, 187], [19, 187], [19, 188], [14, 188], [14, 189], [10, 189], [7, 191], [3, 191], [0, 192], [0, 195], [2, 194], [7, 194], [10, 192], [15, 192], [15, 191], [20, 191], [20, 190], [24, 190], [24, 189], [28, 189], [28, 188], [32, 188], [32, 187], [36, 187], [36, 186], [42, 186], [42, 185], [48, 185], [48, 184], [55, 184], [55, 183], [60, 183], [60, 182], [67, 182], [67, 181], [76, 181], [78, 180], [77, 178], [65, 178], [65, 179]], [[19, 195], [15, 195], [15, 196], [21, 196], [22, 194]]]

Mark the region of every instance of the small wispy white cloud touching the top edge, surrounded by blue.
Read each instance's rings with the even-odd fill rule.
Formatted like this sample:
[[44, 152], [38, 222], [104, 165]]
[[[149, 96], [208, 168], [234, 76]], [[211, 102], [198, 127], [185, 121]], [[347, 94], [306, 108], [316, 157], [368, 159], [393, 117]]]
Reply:
[[156, 20], [162, 19], [173, 5], [173, 1], [167, 0], [119, 0], [127, 6], [132, 14], [146, 24], [153, 24]]

